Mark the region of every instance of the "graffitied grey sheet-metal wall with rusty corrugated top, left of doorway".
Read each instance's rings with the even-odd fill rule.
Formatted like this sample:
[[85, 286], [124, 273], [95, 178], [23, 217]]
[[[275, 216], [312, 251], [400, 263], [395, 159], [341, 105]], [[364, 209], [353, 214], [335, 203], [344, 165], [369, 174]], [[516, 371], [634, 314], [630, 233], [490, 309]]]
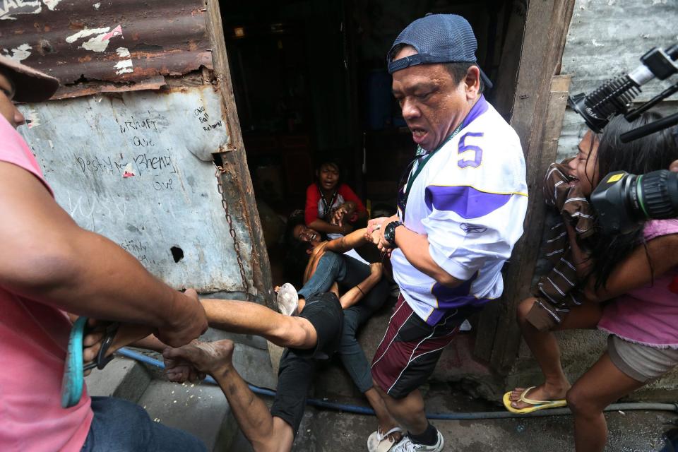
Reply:
[[79, 225], [177, 289], [256, 299], [270, 280], [249, 172], [220, 175], [231, 225], [215, 177], [213, 154], [244, 149], [208, 14], [200, 0], [5, 0], [0, 52], [61, 81], [20, 106], [20, 132]]

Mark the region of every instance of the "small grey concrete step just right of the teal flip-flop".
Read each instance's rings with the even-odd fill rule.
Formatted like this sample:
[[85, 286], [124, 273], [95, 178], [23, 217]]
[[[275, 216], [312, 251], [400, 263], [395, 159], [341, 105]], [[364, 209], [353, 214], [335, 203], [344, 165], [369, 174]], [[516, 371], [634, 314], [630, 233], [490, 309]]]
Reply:
[[102, 369], [85, 377], [90, 396], [117, 397], [136, 402], [144, 393], [151, 376], [133, 359], [116, 356]]

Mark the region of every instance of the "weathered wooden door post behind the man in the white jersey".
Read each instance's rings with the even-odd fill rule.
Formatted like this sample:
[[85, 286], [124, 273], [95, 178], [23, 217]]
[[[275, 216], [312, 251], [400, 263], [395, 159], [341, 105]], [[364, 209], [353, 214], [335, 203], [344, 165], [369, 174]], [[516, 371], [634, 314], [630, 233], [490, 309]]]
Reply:
[[[530, 295], [544, 227], [542, 179], [549, 163], [556, 158], [558, 138], [547, 130], [549, 124], [554, 124], [547, 117], [549, 105], [553, 103], [552, 90], [559, 93], [559, 108], [564, 110], [562, 90], [565, 90], [566, 98], [563, 87], [569, 85], [569, 78], [567, 81], [554, 78], [560, 73], [574, 4], [575, 0], [529, 0], [518, 70], [511, 70], [511, 65], [515, 67], [511, 61], [502, 61], [500, 65], [497, 86], [504, 90], [515, 87], [513, 99], [505, 98], [510, 105], [504, 105], [504, 108], [511, 112], [510, 124], [523, 144], [529, 201], [525, 232], [504, 268], [504, 295], [501, 301], [484, 309], [474, 350], [476, 357], [489, 362], [491, 369], [499, 374], [511, 370], [521, 345], [515, 313], [518, 303]], [[501, 71], [503, 68], [506, 70]], [[556, 124], [558, 130], [561, 122], [562, 117]], [[546, 137], [549, 138], [547, 145]]]

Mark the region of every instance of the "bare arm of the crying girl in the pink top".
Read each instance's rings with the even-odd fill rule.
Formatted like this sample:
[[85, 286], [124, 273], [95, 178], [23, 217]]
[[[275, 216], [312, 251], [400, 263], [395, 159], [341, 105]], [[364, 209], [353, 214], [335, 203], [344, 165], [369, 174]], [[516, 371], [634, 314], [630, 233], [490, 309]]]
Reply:
[[[654, 278], [658, 278], [671, 268], [678, 266], [678, 234], [665, 235], [650, 240], [647, 246], [654, 270]], [[645, 248], [638, 246], [629, 257], [614, 268], [605, 287], [594, 290], [595, 278], [588, 278], [584, 296], [592, 302], [604, 302], [630, 290], [648, 285], [652, 278], [653, 275], [650, 273]]]

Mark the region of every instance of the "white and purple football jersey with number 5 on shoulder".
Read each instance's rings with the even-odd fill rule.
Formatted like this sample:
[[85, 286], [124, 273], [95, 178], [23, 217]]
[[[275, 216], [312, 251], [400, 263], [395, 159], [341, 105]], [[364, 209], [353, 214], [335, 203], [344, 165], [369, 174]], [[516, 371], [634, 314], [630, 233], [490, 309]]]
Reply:
[[412, 310], [434, 325], [448, 309], [499, 297], [501, 267], [523, 234], [527, 206], [520, 140], [481, 96], [460, 132], [415, 179], [405, 218], [398, 212], [405, 227], [427, 235], [433, 260], [465, 281], [455, 288], [441, 285], [394, 250], [393, 278]]

